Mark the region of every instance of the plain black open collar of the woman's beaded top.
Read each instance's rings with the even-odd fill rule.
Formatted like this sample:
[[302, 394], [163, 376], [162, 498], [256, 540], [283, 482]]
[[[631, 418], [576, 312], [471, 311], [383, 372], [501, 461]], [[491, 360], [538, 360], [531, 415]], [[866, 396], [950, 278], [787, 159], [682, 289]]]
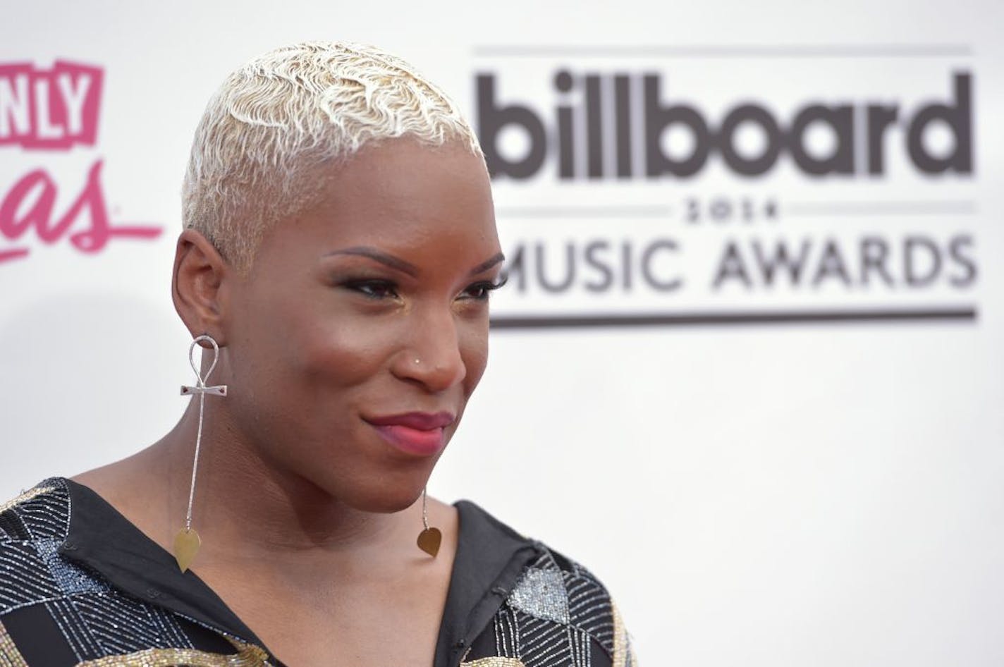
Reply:
[[[178, 570], [174, 557], [90, 488], [71, 479], [70, 520], [59, 552], [98, 573], [114, 588], [225, 635], [265, 647], [199, 577]], [[471, 642], [498, 611], [523, 568], [538, 553], [521, 536], [469, 500], [454, 503], [460, 534], [435, 667], [460, 664]], [[281, 664], [273, 657], [273, 662]]]

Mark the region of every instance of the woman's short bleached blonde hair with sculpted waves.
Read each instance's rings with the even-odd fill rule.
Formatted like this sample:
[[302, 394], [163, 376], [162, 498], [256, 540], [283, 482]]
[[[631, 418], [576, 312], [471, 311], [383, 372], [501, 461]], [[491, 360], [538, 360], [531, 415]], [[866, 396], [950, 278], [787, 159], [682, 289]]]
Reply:
[[311, 41], [259, 55], [227, 77], [199, 123], [184, 225], [246, 275], [264, 234], [319, 191], [306, 170], [399, 137], [460, 141], [484, 158], [453, 101], [390, 53]]

